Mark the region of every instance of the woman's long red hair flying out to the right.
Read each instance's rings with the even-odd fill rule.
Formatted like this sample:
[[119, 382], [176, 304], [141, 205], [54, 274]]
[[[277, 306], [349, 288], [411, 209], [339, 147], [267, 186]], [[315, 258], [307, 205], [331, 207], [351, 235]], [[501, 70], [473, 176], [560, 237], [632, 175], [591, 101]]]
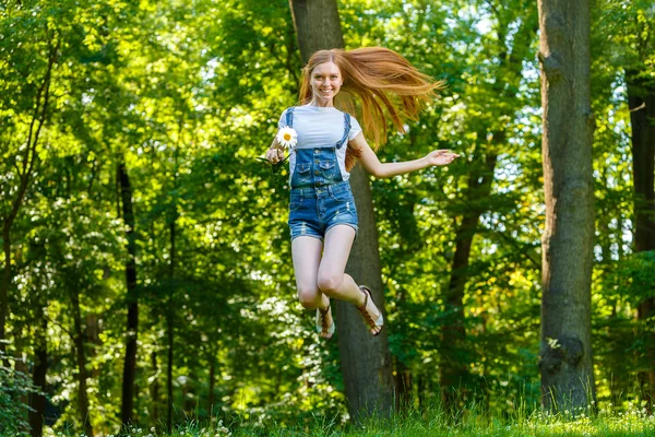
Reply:
[[[421, 103], [434, 97], [434, 91], [444, 87], [421, 73], [407, 59], [384, 47], [365, 47], [354, 50], [319, 50], [302, 69], [300, 104], [312, 99], [311, 73], [324, 62], [334, 62], [344, 81], [334, 106], [359, 116], [362, 129], [369, 134], [373, 149], [386, 141], [386, 116], [400, 132], [405, 132], [405, 121], [416, 120]], [[348, 146], [346, 169], [349, 172], [360, 151]]]

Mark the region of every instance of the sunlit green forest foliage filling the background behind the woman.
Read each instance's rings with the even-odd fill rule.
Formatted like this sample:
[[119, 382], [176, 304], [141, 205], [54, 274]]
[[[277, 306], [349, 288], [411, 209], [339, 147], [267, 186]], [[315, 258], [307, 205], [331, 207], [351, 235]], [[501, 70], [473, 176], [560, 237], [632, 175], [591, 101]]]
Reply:
[[[338, 8], [347, 48], [389, 47], [448, 83], [408, 133], [389, 137], [381, 161], [434, 149], [462, 155], [448, 167], [371, 181], [395, 374], [412, 380], [415, 404], [440, 395], [444, 362], [467, 369], [463, 402], [510, 414], [522, 406], [512, 399], [538, 404], [545, 208], [536, 2]], [[644, 339], [655, 323], [639, 320], [636, 307], [655, 297], [655, 252], [633, 247], [626, 72], [655, 81], [654, 22], [648, 1], [595, 2], [592, 332], [605, 406], [642, 402], [640, 375], [652, 366]], [[286, 0], [0, 5], [0, 422], [27, 420], [21, 404], [36, 388], [25, 375], [47, 356], [46, 424], [84, 429], [84, 356], [88, 422], [97, 433], [120, 427], [128, 231], [139, 302], [135, 423], [159, 426], [169, 401], [172, 422], [345, 421], [337, 343], [319, 341], [295, 297], [287, 173], [257, 160], [297, 102], [301, 68]], [[453, 349], [439, 333], [451, 322], [454, 250], [472, 211], [479, 222], [467, 231], [469, 263], [458, 272], [466, 336]]]

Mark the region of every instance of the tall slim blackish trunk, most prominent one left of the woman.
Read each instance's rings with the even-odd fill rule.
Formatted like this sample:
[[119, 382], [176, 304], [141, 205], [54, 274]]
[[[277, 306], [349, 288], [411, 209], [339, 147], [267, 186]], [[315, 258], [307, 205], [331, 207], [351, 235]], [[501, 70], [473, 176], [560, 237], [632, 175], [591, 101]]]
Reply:
[[136, 371], [136, 339], [139, 333], [139, 300], [136, 297], [136, 238], [134, 235], [134, 213], [132, 210], [132, 186], [123, 162], [118, 164], [118, 179], [122, 203], [123, 222], [127, 226], [128, 261], [126, 262], [126, 281], [128, 305], [126, 361], [123, 365], [122, 404], [120, 418], [123, 426], [132, 421], [134, 410], [134, 380]]

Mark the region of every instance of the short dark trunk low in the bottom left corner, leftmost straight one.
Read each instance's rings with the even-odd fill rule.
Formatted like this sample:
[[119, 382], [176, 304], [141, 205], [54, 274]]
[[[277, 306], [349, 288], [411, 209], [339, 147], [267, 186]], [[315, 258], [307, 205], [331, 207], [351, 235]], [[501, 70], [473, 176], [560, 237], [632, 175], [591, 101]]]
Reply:
[[[40, 391], [46, 391], [46, 373], [48, 371], [48, 318], [44, 308], [48, 305], [47, 299], [37, 303], [35, 318], [38, 324], [34, 333], [34, 368], [32, 370], [32, 382]], [[29, 397], [29, 434], [40, 437], [44, 434], [44, 415], [46, 412], [46, 397], [40, 393], [32, 393]]]

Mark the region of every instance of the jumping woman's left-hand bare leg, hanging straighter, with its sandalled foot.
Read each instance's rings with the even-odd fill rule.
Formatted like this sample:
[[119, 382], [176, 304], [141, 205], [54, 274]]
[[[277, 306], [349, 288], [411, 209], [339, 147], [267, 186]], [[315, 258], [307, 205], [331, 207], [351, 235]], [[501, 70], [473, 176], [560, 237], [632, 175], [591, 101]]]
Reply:
[[[291, 241], [291, 256], [294, 259], [294, 272], [296, 275], [296, 288], [298, 299], [307, 309], [326, 309], [330, 306], [330, 299], [319, 290], [318, 275], [319, 264], [321, 262], [321, 251], [323, 243], [313, 237], [297, 237]], [[332, 311], [323, 316], [326, 326], [331, 326]], [[322, 336], [327, 338], [323, 332]]]

